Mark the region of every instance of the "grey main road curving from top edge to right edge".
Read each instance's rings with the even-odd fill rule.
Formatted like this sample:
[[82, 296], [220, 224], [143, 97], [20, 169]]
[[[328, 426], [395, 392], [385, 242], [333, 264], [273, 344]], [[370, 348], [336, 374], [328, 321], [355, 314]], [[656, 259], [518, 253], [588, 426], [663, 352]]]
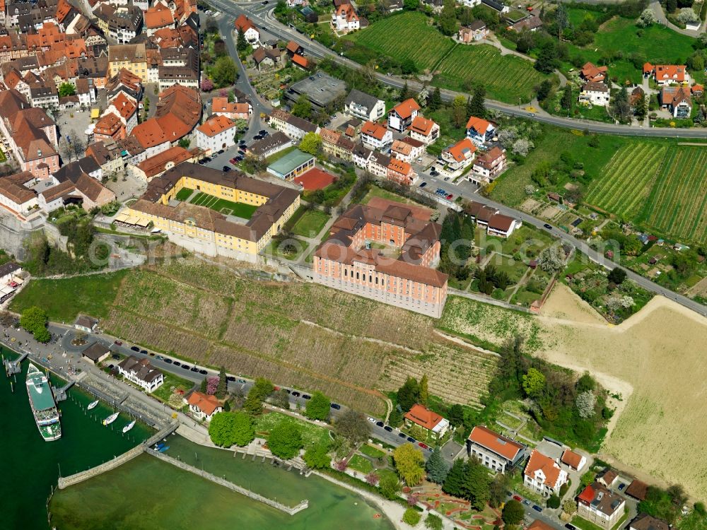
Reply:
[[[272, 16], [271, 8], [268, 10], [268, 6], [262, 6], [259, 2], [234, 4], [230, 2], [226, 3], [223, 0], [209, 0], [209, 3], [218, 7], [219, 10], [224, 13], [223, 19], [228, 20], [229, 25], [233, 18], [239, 16], [241, 13], [245, 13], [256, 25], [259, 26], [259, 28], [267, 28], [267, 33], [274, 35], [281, 40], [294, 40], [312, 57], [316, 57], [317, 59], [331, 57], [334, 61], [344, 64], [351, 69], [361, 68], [360, 64], [351, 61], [350, 59], [346, 59], [346, 57], [337, 55], [331, 49], [320, 45], [319, 42], [310, 40], [308, 37], [298, 33], [296, 30], [279, 23], [279, 21]], [[264, 11], [267, 11], [267, 13]], [[377, 77], [380, 83], [385, 83], [386, 85], [393, 86], [395, 88], [402, 88], [406, 83], [406, 80], [402, 78], [398, 78], [396, 76], [386, 76], [382, 73], [378, 73]], [[421, 84], [416, 81], [407, 80], [407, 83], [409, 88], [412, 90], [419, 91], [422, 89]], [[463, 95], [464, 98], [468, 97], [468, 94], [466, 93], [455, 92], [452, 90], [443, 89], [440, 90], [440, 93], [442, 95], [442, 99], [445, 101], [452, 101], [457, 97], [457, 95]], [[644, 129], [643, 127], [633, 127], [629, 125], [604, 124], [582, 119], [569, 119], [549, 115], [531, 114], [527, 110], [519, 108], [517, 105], [508, 105], [495, 100], [486, 100], [486, 107], [497, 110], [498, 112], [503, 112], [503, 114], [508, 114], [509, 116], [523, 117], [566, 129], [582, 129], [600, 134], [659, 136], [666, 138], [707, 138], [707, 129]]]

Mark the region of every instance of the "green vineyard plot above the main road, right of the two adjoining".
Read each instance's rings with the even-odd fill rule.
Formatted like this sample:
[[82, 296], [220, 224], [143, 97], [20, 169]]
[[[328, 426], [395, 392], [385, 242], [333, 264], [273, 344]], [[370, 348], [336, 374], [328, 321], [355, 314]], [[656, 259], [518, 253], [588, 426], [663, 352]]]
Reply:
[[457, 45], [437, 66], [433, 85], [463, 90], [472, 81], [481, 81], [489, 98], [517, 103], [532, 99], [533, 87], [547, 78], [530, 61], [515, 55], [501, 55], [491, 45]]

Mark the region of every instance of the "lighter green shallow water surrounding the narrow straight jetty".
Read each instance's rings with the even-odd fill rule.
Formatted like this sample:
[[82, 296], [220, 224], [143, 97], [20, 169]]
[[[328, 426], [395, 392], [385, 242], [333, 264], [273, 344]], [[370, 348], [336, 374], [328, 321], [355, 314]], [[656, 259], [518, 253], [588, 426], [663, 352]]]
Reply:
[[[361, 497], [317, 476], [277, 469], [223, 449], [168, 439], [168, 454], [276, 498], [286, 505], [309, 500], [295, 515], [250, 500], [148, 454], [113, 471], [61, 490], [52, 499], [58, 530], [390, 530], [390, 521]], [[90, 510], [84, 510], [90, 507]], [[378, 516], [378, 517], [377, 517]]]

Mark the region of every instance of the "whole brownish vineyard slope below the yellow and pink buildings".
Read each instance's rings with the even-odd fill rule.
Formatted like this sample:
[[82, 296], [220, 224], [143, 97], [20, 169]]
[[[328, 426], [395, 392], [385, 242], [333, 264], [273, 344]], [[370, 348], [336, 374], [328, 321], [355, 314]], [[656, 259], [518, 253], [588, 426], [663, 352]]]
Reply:
[[380, 389], [423, 373], [433, 393], [478, 406], [496, 365], [437, 336], [420, 314], [320, 285], [244, 280], [197, 259], [128, 275], [103, 325], [142, 346], [378, 414]]

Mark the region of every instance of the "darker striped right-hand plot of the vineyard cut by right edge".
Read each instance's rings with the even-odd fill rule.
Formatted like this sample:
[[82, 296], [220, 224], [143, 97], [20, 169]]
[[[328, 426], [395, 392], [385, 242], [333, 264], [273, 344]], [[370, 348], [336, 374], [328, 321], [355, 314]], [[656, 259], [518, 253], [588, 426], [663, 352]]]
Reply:
[[679, 146], [655, 180], [645, 223], [679, 239], [707, 242], [707, 148]]

